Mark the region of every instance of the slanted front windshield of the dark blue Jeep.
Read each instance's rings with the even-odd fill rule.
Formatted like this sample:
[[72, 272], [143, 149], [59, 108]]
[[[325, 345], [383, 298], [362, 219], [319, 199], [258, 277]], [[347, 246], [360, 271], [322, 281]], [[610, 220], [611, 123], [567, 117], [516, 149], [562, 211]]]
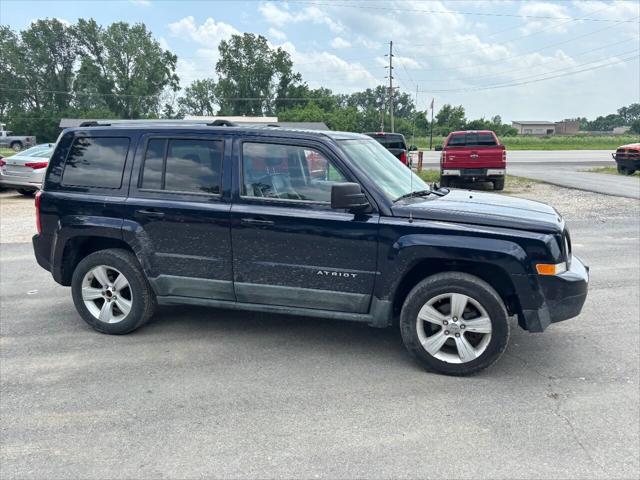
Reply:
[[340, 140], [340, 146], [393, 201], [412, 191], [429, 190], [424, 180], [375, 140]]

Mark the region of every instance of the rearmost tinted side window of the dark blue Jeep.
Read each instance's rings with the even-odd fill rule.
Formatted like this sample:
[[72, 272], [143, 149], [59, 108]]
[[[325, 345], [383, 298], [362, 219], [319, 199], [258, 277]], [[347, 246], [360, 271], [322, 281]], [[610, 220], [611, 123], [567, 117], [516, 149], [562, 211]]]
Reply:
[[120, 188], [129, 151], [126, 137], [77, 137], [64, 165], [62, 185]]

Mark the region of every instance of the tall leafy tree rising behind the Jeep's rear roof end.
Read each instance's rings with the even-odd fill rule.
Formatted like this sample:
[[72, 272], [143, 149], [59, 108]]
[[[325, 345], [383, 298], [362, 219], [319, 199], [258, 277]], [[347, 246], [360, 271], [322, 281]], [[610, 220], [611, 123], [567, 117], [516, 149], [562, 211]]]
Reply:
[[76, 36], [84, 55], [75, 83], [79, 105], [107, 106], [122, 118], [158, 115], [163, 90], [179, 88], [178, 57], [144, 24], [116, 22], [105, 29], [80, 19]]

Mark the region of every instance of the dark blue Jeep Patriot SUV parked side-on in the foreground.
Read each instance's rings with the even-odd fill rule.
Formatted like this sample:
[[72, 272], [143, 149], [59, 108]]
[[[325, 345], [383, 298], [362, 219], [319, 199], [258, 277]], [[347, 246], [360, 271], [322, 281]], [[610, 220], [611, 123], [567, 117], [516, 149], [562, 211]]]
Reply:
[[580, 313], [588, 271], [543, 203], [435, 190], [365, 135], [187, 123], [65, 130], [37, 195], [38, 263], [93, 328], [156, 305], [387, 327], [452, 375], [494, 362], [508, 317]]

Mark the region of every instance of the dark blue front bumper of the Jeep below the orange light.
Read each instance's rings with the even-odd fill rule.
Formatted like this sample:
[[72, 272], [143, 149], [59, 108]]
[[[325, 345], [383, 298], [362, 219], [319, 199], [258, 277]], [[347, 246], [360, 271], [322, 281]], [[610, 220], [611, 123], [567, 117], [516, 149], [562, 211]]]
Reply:
[[540, 308], [522, 311], [522, 327], [542, 332], [552, 323], [580, 314], [589, 288], [589, 267], [580, 258], [574, 256], [569, 270], [560, 275], [537, 275], [537, 278], [544, 301]]

